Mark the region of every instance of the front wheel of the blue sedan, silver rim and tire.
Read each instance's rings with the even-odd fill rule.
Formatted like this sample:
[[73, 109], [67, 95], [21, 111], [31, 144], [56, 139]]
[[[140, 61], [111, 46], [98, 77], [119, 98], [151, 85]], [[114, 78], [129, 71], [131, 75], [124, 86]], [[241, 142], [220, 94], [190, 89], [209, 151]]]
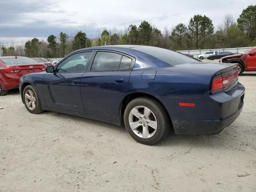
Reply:
[[40, 99], [36, 93], [36, 90], [32, 85], [28, 85], [24, 88], [23, 101], [26, 106], [26, 109], [32, 114], [38, 114], [43, 112]]

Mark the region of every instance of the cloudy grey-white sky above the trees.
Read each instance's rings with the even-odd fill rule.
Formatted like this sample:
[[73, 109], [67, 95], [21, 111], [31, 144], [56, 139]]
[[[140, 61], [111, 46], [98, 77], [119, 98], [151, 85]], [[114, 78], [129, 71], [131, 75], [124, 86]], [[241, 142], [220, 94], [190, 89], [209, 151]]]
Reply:
[[142, 20], [171, 29], [194, 14], [205, 14], [216, 27], [228, 13], [236, 20], [250, 4], [256, 0], [0, 0], [0, 43], [79, 30], [94, 38], [104, 27], [124, 30]]

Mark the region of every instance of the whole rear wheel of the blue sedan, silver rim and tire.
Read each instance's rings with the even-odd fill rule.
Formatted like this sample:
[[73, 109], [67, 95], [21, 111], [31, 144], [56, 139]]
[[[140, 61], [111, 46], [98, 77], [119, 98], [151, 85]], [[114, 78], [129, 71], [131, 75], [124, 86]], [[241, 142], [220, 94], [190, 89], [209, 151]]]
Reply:
[[124, 124], [134, 140], [146, 145], [156, 144], [170, 132], [166, 109], [148, 97], [139, 97], [128, 103], [124, 110]]

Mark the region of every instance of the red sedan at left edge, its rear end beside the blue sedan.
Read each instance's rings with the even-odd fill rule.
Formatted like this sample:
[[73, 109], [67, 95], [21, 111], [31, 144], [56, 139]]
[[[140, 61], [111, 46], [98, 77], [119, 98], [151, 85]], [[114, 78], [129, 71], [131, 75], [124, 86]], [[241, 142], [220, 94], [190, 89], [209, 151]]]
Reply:
[[45, 67], [45, 64], [28, 57], [0, 57], [0, 96], [7, 94], [7, 90], [18, 88], [21, 76], [42, 72]]

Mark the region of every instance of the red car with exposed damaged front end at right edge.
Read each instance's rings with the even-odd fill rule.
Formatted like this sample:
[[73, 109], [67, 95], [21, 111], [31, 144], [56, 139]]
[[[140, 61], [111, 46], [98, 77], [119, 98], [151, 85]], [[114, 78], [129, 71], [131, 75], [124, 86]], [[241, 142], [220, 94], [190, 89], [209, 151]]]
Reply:
[[238, 63], [239, 75], [244, 71], [256, 71], [256, 47], [242, 54], [229, 55], [220, 58], [222, 63]]

